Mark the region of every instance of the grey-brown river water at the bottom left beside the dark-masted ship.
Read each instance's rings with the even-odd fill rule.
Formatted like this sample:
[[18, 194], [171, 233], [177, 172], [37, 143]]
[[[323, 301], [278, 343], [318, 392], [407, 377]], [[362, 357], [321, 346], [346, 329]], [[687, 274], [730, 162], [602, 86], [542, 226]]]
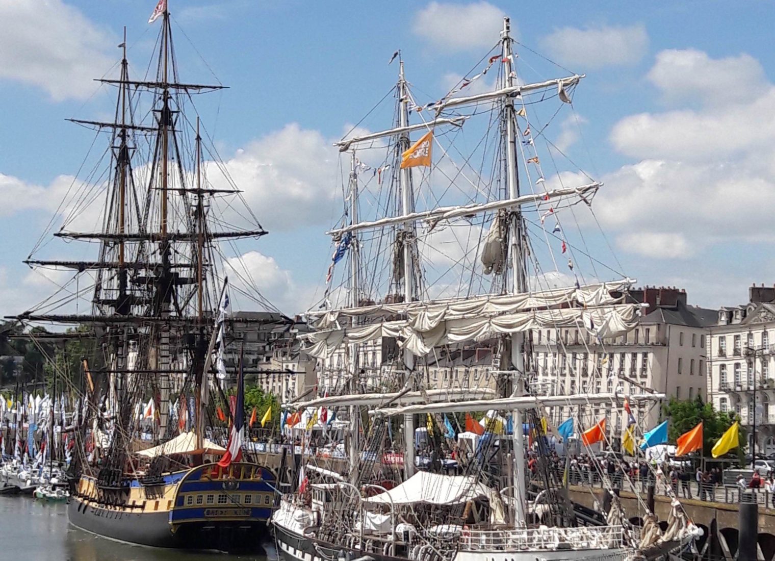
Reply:
[[267, 556], [229, 556], [130, 546], [73, 528], [67, 505], [29, 497], [0, 496], [0, 560], [2, 561], [277, 561]]

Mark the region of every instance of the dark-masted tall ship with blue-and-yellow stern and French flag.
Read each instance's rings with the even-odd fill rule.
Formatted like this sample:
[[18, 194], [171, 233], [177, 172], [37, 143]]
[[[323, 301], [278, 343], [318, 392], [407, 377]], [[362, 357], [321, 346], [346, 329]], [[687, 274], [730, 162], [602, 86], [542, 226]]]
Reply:
[[[229, 297], [261, 301], [239, 253], [227, 257], [239, 240], [267, 232], [205, 140], [193, 103], [224, 86], [181, 80], [167, 0], [153, 22], [160, 31], [146, 74], [130, 72], [125, 32], [119, 75], [100, 80], [117, 92], [113, 118], [71, 119], [94, 129], [95, 141], [53, 236], [96, 246], [96, 255], [39, 256], [52, 221], [26, 263], [73, 276], [57, 276], [66, 279], [57, 294], [16, 319], [69, 325], [57, 338], [91, 341], [91, 353], [75, 358], [79, 379], [57, 372], [77, 396], [65, 428], [72, 525], [145, 546], [252, 549], [274, 507], [276, 475], [240, 446], [242, 364], [236, 394], [221, 380], [225, 347], [239, 346], [225, 328]], [[241, 281], [229, 284], [229, 272]]]

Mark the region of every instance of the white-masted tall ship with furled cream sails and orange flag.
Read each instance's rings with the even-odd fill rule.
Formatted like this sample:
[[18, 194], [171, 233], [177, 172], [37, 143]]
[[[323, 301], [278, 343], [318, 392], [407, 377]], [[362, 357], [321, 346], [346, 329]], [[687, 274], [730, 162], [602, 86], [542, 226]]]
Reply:
[[[508, 19], [494, 43], [429, 102], [397, 52], [398, 83], [383, 98], [393, 121], [361, 121], [337, 143], [343, 213], [305, 336], [319, 397], [285, 407], [309, 419], [302, 447], [330, 410], [347, 418], [349, 466], [301, 463], [298, 490], [271, 520], [285, 561], [652, 559], [696, 535], [677, 501], [667, 531], [646, 504], [633, 523], [604, 470], [611, 507], [580, 508], [551, 467], [558, 416], [580, 433], [601, 409], [637, 413], [663, 396], [595, 393], [602, 369], [586, 387], [539, 379], [539, 334], [570, 363], [560, 332], [605, 345], [635, 329], [641, 307], [631, 279], [602, 281], [609, 269], [583, 234], [571, 238], [594, 225], [581, 215], [601, 184], [559, 163], [549, 133], [584, 76], [525, 80]], [[610, 439], [604, 423], [598, 440]]]

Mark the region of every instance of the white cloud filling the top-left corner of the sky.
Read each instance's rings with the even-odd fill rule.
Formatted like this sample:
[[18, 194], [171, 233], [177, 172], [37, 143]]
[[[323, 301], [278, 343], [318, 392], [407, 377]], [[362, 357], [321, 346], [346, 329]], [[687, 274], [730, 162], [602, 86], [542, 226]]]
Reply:
[[0, 2], [0, 78], [43, 88], [55, 101], [86, 98], [114, 63], [115, 38], [61, 0]]

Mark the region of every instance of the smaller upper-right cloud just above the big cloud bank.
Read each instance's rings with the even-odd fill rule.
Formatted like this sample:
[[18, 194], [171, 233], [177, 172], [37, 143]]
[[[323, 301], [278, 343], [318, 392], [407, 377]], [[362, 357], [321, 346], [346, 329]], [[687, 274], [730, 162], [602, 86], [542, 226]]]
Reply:
[[668, 102], [746, 102], [767, 88], [762, 65], [746, 53], [713, 59], [696, 49], [663, 50], [656, 55], [648, 78]]

